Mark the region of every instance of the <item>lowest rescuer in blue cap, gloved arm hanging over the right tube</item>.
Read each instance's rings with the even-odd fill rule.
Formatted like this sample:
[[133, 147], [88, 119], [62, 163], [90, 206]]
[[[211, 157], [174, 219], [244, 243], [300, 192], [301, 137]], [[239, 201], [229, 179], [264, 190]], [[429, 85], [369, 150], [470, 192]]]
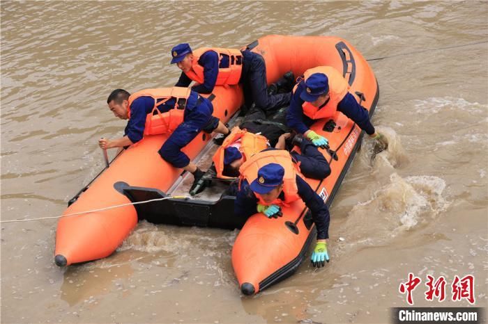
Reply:
[[[259, 168], [259, 165], [264, 165]], [[327, 252], [330, 213], [321, 197], [300, 175], [289, 152], [270, 150], [260, 152], [241, 166], [240, 190], [236, 196], [234, 213], [250, 217], [256, 212], [267, 218], [282, 216], [282, 206], [303, 200], [312, 213], [317, 228], [317, 244], [312, 253], [312, 265], [319, 268], [329, 261]]]

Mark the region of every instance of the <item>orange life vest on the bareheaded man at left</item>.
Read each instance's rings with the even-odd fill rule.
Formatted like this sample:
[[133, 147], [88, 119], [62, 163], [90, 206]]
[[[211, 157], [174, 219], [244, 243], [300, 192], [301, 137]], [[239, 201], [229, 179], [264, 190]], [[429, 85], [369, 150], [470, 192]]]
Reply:
[[[130, 105], [135, 99], [139, 97], [153, 97], [154, 107], [151, 113], [147, 114], [146, 124], [144, 126], [144, 136], [156, 135], [162, 133], [170, 133], [174, 131], [176, 127], [183, 122], [184, 109], [178, 108], [178, 99], [187, 100], [190, 97], [190, 88], [160, 88], [160, 89], [146, 89], [140, 90], [129, 97], [129, 118], [130, 118]], [[165, 104], [171, 97], [176, 99], [174, 109], [161, 113], [158, 109], [159, 106]], [[158, 100], [162, 99], [160, 102]]]

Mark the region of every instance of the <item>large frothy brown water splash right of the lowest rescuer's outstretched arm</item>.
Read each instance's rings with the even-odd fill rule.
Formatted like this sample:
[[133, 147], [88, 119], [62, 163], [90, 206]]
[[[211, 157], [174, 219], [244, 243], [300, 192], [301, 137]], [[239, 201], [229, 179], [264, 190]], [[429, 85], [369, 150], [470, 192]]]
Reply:
[[445, 181], [433, 176], [390, 175], [390, 183], [373, 197], [353, 207], [337, 234], [349, 247], [380, 245], [395, 236], [432, 222], [448, 206], [443, 197]]

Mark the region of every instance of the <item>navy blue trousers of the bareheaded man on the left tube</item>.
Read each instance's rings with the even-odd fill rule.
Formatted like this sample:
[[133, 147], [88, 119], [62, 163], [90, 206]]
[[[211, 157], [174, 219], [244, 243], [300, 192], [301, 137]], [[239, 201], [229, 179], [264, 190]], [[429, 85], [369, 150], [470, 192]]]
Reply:
[[207, 99], [202, 99], [195, 108], [185, 109], [183, 123], [181, 123], [162, 145], [158, 153], [175, 168], [184, 168], [190, 164], [190, 158], [181, 152], [198, 133], [203, 130], [211, 133], [217, 126], [219, 119], [212, 115], [213, 106]]

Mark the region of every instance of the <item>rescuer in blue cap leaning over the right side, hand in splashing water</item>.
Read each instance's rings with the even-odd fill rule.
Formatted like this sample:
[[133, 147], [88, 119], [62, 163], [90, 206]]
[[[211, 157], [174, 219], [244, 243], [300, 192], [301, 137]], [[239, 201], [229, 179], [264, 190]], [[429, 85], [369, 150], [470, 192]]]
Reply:
[[327, 138], [315, 133], [310, 126], [315, 120], [333, 118], [336, 111], [344, 113], [363, 129], [379, 145], [386, 149], [388, 140], [375, 131], [368, 112], [349, 92], [349, 83], [333, 67], [320, 66], [305, 71], [291, 97], [287, 113], [287, 125], [302, 133], [317, 146], [328, 145]]

